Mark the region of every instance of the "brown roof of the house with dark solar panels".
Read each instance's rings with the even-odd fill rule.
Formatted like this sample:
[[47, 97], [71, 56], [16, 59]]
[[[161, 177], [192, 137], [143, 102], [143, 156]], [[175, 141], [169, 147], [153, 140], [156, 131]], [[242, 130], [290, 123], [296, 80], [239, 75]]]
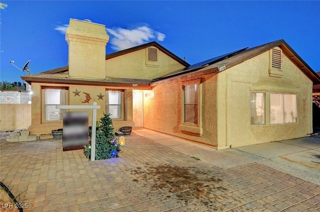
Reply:
[[[146, 79], [131, 79], [131, 78], [115, 78], [107, 77], [106, 79], [84, 79], [84, 78], [74, 78], [69, 77], [67, 74], [68, 66], [63, 66], [60, 68], [52, 69], [49, 71], [44, 71], [39, 74], [25, 75], [21, 78], [30, 82], [52, 82], [52, 83], [67, 83], [67, 84], [90, 84], [90, 85], [112, 85], [112, 86], [132, 86], [132, 84], [139, 84], [139, 87], [149, 88], [149, 86], [154, 86], [163, 80], [174, 80], [178, 76], [197, 76], [204, 73], [217, 72], [220, 66], [225, 66], [224, 70], [235, 66], [241, 62], [244, 62], [250, 58], [253, 58], [265, 51], [270, 50], [276, 46], [282, 49], [282, 52], [300, 68], [300, 70], [313, 82], [314, 85], [319, 84], [320, 86], [320, 76], [316, 74], [306, 62], [283, 40], [276, 40], [263, 45], [259, 45], [253, 48], [242, 48], [227, 54], [223, 54], [217, 57], [213, 57], [208, 60], [204, 60], [193, 65], [188, 64], [184, 60], [180, 59], [161, 45], [156, 42], [145, 43], [139, 46], [128, 48], [122, 51], [114, 52], [105, 55], [105, 59], [110, 59], [123, 54], [137, 51], [149, 46], [155, 46], [171, 58], [178, 61], [180, 64], [184, 65], [186, 68], [176, 70], [169, 74], [163, 75], [159, 78], [153, 80]], [[319, 72], [318, 72], [319, 73]], [[319, 88], [320, 90], [320, 88]]]

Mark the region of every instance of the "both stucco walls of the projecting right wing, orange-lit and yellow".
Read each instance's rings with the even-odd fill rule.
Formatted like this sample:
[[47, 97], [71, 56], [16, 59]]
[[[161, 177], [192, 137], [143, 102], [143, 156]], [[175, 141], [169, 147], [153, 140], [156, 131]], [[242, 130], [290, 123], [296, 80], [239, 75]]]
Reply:
[[[305, 137], [312, 132], [312, 82], [282, 54], [282, 77], [269, 76], [269, 53], [220, 73], [201, 76], [202, 135], [179, 130], [182, 77], [154, 86], [144, 97], [143, 126], [217, 149]], [[266, 125], [250, 125], [250, 91], [266, 93]], [[295, 93], [297, 123], [270, 125], [269, 93]], [[155, 121], [156, 120], [156, 121]]]

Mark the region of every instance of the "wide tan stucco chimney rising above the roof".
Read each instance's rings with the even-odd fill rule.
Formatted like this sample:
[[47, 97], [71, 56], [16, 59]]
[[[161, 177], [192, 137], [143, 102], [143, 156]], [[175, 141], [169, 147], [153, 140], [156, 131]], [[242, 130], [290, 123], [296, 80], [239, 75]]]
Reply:
[[70, 77], [105, 79], [105, 25], [70, 18], [65, 40]]

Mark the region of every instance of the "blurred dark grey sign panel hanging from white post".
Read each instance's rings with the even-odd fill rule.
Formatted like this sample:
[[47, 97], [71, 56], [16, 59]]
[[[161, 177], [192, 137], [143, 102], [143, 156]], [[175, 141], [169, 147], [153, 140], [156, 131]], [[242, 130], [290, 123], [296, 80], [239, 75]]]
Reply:
[[88, 144], [88, 112], [63, 112], [63, 151], [83, 149]]

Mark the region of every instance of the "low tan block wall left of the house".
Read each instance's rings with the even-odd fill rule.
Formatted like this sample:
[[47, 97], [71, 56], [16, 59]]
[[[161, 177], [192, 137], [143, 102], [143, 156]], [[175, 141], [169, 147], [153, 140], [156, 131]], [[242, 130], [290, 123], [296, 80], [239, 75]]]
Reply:
[[31, 125], [31, 104], [0, 104], [0, 131]]

